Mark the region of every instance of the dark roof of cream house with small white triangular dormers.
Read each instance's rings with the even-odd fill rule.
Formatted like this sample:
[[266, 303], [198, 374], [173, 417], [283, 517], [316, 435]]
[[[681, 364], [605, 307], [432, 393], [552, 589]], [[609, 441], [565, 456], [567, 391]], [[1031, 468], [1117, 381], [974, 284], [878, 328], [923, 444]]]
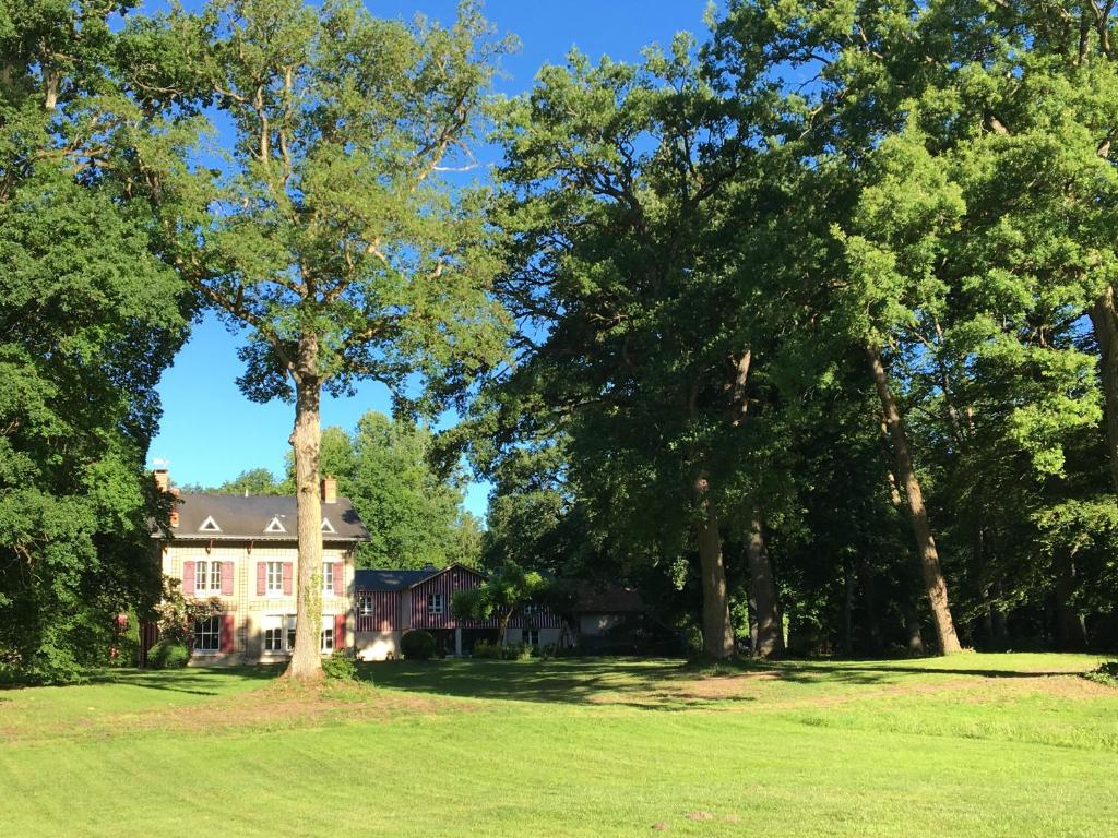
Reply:
[[[296, 541], [299, 539], [295, 498], [280, 495], [200, 495], [183, 494], [176, 508], [179, 525], [171, 540], [214, 541]], [[349, 498], [322, 504], [322, 517], [334, 532], [323, 528], [323, 541], [368, 541], [364, 528]], [[163, 537], [161, 532], [154, 537]]]

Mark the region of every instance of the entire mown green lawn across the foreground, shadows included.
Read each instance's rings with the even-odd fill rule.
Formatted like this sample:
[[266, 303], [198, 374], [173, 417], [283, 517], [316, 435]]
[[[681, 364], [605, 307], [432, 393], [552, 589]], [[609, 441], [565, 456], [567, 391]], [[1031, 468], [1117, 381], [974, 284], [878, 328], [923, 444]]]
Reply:
[[0, 691], [0, 836], [1114, 836], [1070, 655], [121, 672]]

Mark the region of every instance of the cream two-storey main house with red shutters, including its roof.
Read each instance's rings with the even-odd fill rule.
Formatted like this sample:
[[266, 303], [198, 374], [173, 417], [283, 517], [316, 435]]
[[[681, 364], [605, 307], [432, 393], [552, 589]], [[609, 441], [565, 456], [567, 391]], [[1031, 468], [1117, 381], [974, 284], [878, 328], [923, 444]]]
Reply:
[[[169, 489], [165, 469], [157, 485]], [[322, 653], [353, 645], [353, 554], [369, 533], [333, 478], [322, 480]], [[299, 560], [294, 497], [174, 493], [163, 573], [182, 592], [216, 599], [221, 612], [195, 626], [192, 661], [203, 665], [286, 660], [295, 640]], [[151, 642], [145, 638], [143, 646]]]

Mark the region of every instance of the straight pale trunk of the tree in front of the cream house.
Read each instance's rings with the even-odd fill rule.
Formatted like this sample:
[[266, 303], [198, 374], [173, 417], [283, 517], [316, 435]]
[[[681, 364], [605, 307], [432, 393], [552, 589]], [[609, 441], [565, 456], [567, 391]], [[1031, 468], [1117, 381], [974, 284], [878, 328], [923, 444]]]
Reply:
[[319, 636], [322, 631], [322, 498], [319, 495], [319, 449], [322, 445], [316, 335], [299, 342], [299, 375], [295, 378], [295, 427], [291, 446], [295, 454], [295, 508], [299, 521], [299, 581], [295, 601], [295, 650], [286, 676], [296, 680], [322, 678]]

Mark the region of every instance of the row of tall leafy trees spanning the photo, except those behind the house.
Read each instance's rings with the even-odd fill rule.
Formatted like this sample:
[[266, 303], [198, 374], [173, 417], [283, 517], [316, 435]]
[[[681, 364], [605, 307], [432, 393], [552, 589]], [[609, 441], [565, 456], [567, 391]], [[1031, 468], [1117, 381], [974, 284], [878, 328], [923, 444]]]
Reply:
[[65, 677], [158, 596], [203, 307], [294, 407], [300, 625], [321, 392], [371, 379], [463, 417], [486, 561], [638, 584], [709, 656], [1114, 645], [1114, 7], [730, 0], [496, 99], [470, 2], [4, 3], [0, 655]]

